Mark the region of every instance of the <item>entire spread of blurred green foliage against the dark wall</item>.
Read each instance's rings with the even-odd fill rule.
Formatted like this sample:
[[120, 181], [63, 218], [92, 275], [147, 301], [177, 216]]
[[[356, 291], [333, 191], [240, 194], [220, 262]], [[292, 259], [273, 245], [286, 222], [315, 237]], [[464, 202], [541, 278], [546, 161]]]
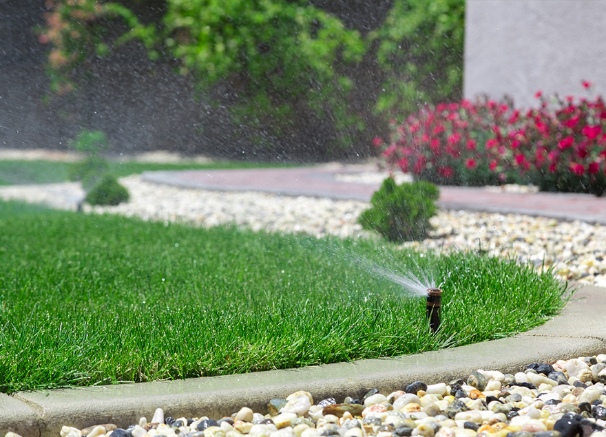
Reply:
[[[395, 0], [364, 38], [304, 0], [167, 0], [163, 17], [151, 22], [129, 3], [49, 1], [40, 39], [52, 44], [54, 92], [72, 89], [77, 72], [98, 56], [140, 41], [151, 59], [176, 58], [205, 99], [228, 89], [221, 104], [259, 143], [309, 138], [317, 129], [324, 142], [314, 147], [326, 156], [368, 142], [364, 121], [384, 124], [380, 117], [461, 96], [464, 0]], [[352, 92], [370, 82], [370, 93]], [[364, 100], [376, 92], [376, 101]]]

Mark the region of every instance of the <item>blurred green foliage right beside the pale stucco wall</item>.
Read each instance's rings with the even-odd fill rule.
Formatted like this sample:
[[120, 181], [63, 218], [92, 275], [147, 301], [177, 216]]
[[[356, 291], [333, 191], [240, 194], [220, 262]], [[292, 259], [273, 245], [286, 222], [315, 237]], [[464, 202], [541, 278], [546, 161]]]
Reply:
[[376, 109], [408, 114], [459, 100], [463, 87], [465, 0], [396, 0], [381, 28], [377, 62], [386, 72]]

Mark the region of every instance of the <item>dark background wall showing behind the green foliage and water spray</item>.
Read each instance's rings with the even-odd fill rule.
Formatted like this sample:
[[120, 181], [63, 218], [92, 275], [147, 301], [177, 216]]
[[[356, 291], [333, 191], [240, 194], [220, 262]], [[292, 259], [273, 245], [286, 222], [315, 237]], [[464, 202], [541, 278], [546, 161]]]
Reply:
[[[392, 2], [377, 1], [372, 11], [367, 1], [313, 3], [366, 33], [382, 23]], [[136, 43], [98, 58], [74, 92], [52, 95], [44, 66], [48, 47], [34, 32], [34, 26], [43, 25], [45, 12], [44, 0], [0, 0], [0, 147], [67, 149], [81, 129], [92, 129], [105, 132], [114, 153], [125, 154], [171, 150], [216, 158], [314, 161], [370, 153], [367, 145], [353, 145], [341, 156], [318, 154], [322, 147], [317, 146], [330, 133], [305, 125], [304, 119], [302, 129], [285, 138], [234, 125], [221, 104], [222, 96], [229, 101], [229, 89], [215, 89], [217, 101], [207, 103], [196, 94], [193, 81], [176, 74], [176, 64], [149, 61]], [[364, 83], [364, 76], [372, 74], [361, 74], [356, 82]], [[372, 97], [371, 88], [361, 90], [362, 100]], [[362, 100], [354, 105], [364, 105]], [[262, 144], [251, 140], [259, 137]]]

